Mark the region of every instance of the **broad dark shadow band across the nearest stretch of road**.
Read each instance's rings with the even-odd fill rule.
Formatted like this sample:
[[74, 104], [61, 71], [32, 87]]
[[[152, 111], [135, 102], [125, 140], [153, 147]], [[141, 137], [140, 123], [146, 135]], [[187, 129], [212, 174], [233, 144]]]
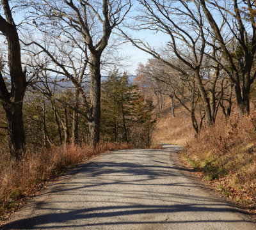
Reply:
[[[79, 210], [63, 210], [65, 213], [56, 213], [56, 210], [49, 209], [49, 213], [45, 215], [38, 215], [36, 217], [31, 217], [28, 219], [17, 220], [10, 224], [6, 224], [3, 229], [55, 229], [60, 227], [61, 229], [70, 229], [70, 227], [86, 227], [86, 226], [106, 226], [106, 225], [120, 225], [122, 224], [150, 224], [156, 223], [153, 220], [136, 220], [136, 221], [117, 221], [117, 222], [101, 222], [100, 218], [111, 218], [111, 217], [120, 217], [124, 216], [127, 217], [128, 215], [140, 215], [140, 214], [154, 214], [154, 215], [163, 215], [168, 214], [171, 215], [172, 213], [182, 213], [182, 212], [189, 212], [193, 211], [201, 213], [209, 212], [209, 213], [226, 213], [229, 212], [238, 212], [233, 208], [227, 208], [225, 204], [223, 204], [223, 208], [220, 208], [220, 204], [218, 207], [212, 208], [208, 207], [206, 203], [204, 207], [197, 206], [197, 204], [177, 204], [177, 205], [164, 205], [164, 206], [157, 206], [157, 205], [118, 205], [118, 206], [104, 206], [104, 207], [97, 207], [97, 208], [84, 208]], [[211, 205], [212, 206], [212, 205]], [[97, 223], [90, 223], [88, 224], [79, 224], [81, 220], [90, 220], [90, 218], [98, 218], [99, 221]], [[76, 220], [79, 222], [76, 223]], [[63, 226], [63, 222], [69, 223]], [[86, 222], [86, 221], [85, 221]], [[161, 221], [158, 221], [161, 222]], [[243, 222], [243, 220], [180, 220], [180, 221], [172, 221], [172, 220], [164, 220], [164, 223], [189, 223], [189, 222]], [[51, 223], [54, 224], [51, 226]], [[41, 225], [47, 224], [47, 226], [40, 227]], [[58, 225], [60, 224], [60, 225]]]

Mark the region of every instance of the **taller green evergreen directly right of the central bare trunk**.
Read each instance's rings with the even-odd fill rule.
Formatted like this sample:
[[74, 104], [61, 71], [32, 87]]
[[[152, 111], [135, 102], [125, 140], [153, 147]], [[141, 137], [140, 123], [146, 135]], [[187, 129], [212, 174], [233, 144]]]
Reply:
[[108, 141], [130, 142], [132, 101], [138, 98], [136, 86], [129, 83], [127, 73], [109, 73], [102, 82], [102, 135]]

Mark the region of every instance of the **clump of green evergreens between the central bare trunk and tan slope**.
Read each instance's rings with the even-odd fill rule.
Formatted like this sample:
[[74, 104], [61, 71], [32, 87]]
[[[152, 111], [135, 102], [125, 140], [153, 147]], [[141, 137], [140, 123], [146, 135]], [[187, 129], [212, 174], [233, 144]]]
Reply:
[[101, 134], [103, 141], [132, 142], [136, 146], [149, 146], [154, 106], [145, 102], [138, 87], [129, 82], [127, 73], [118, 70], [109, 73], [102, 82]]

